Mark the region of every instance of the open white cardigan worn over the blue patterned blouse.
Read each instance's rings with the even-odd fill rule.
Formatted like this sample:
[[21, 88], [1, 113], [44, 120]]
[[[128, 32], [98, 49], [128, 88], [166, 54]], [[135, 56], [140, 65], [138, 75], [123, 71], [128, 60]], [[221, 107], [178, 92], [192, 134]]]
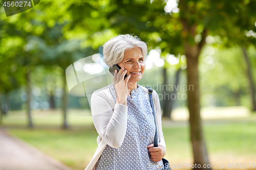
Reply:
[[[145, 93], [148, 93], [145, 87], [140, 87]], [[150, 100], [149, 96], [148, 100]], [[153, 101], [158, 127], [159, 145], [163, 145], [165, 148], [160, 102], [155, 90], [153, 90]], [[92, 94], [91, 110], [93, 123], [99, 134], [97, 137], [98, 148], [94, 153], [93, 159], [84, 170], [96, 169], [94, 166], [107, 144], [112, 148], [119, 148], [121, 146], [126, 133], [127, 109], [128, 107], [125, 105], [115, 104], [109, 86], [96, 90]]]

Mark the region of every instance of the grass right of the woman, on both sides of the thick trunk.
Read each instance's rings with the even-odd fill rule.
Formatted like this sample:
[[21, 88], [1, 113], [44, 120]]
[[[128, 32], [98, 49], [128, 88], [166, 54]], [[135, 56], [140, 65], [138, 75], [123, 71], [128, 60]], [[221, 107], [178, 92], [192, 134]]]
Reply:
[[[253, 115], [246, 119], [211, 120], [209, 124], [204, 124], [203, 131], [209, 160], [211, 164], [217, 165], [217, 169], [220, 163], [255, 162], [255, 117]], [[163, 127], [163, 133], [167, 149], [166, 158], [173, 164], [193, 163], [189, 128]]]

